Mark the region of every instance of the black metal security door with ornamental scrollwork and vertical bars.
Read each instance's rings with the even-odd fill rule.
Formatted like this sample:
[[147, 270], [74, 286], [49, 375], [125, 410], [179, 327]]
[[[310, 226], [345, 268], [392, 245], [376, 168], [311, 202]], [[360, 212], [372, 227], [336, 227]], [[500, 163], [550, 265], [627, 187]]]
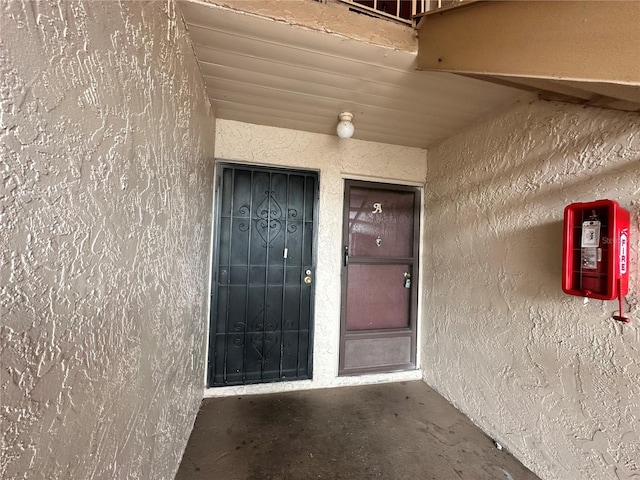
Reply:
[[311, 378], [317, 174], [220, 170], [209, 385]]

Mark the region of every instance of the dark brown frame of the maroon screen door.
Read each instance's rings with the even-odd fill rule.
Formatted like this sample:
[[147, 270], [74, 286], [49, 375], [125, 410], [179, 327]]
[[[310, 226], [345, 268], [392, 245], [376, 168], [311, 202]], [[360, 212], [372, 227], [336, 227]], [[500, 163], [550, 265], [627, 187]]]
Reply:
[[[421, 268], [421, 254], [422, 249], [420, 248], [420, 239], [421, 239], [421, 218], [422, 218], [422, 197], [423, 197], [423, 188], [421, 185], [415, 184], [406, 184], [406, 183], [391, 183], [391, 182], [380, 182], [380, 181], [372, 181], [372, 180], [362, 180], [362, 179], [352, 179], [352, 178], [343, 178], [343, 207], [342, 207], [342, 239], [341, 239], [341, 251], [345, 248], [348, 243], [348, 234], [349, 234], [349, 225], [347, 221], [348, 215], [348, 206], [349, 206], [349, 193], [351, 187], [366, 187], [366, 188], [376, 188], [380, 190], [393, 190], [399, 192], [413, 192], [415, 193], [414, 205], [413, 205], [413, 259], [408, 260], [406, 263], [411, 264], [412, 266], [412, 288], [410, 295], [410, 313], [409, 313], [409, 327], [407, 328], [394, 328], [394, 329], [372, 329], [372, 330], [364, 330], [364, 331], [354, 331], [347, 332], [346, 329], [346, 297], [347, 297], [347, 282], [348, 282], [348, 269], [347, 266], [342, 262], [341, 267], [341, 280], [340, 280], [340, 339], [339, 339], [339, 363], [338, 363], [338, 375], [339, 376], [348, 376], [348, 375], [360, 375], [367, 373], [384, 373], [384, 372], [394, 372], [394, 371], [406, 371], [410, 370], [411, 367], [416, 368], [418, 365], [418, 313], [420, 310], [420, 268]], [[381, 259], [380, 264], [391, 263], [386, 262], [386, 259]], [[403, 260], [403, 259], [399, 259]], [[363, 263], [369, 263], [366, 260]], [[394, 261], [394, 264], [398, 263], [398, 261]], [[389, 335], [395, 334], [395, 335]], [[368, 338], [379, 338], [379, 337], [406, 337], [409, 336], [411, 338], [411, 350], [410, 350], [410, 361], [409, 363], [403, 363], [399, 365], [390, 365], [389, 370], [385, 370], [382, 372], [377, 367], [365, 367], [365, 368], [351, 368], [345, 369], [345, 346], [346, 342], [349, 338], [357, 338], [357, 339], [368, 339]], [[409, 367], [409, 368], [407, 368]]]

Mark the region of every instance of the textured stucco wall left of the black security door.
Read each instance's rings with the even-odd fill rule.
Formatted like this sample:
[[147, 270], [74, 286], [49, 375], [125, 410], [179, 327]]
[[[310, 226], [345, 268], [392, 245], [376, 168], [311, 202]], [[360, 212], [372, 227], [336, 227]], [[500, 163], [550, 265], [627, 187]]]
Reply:
[[173, 2], [0, 3], [0, 477], [173, 478], [214, 118]]

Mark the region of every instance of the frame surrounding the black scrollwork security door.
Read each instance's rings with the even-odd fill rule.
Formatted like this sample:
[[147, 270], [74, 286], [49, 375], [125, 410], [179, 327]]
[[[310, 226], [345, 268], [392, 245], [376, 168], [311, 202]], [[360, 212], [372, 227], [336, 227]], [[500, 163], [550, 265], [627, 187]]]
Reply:
[[[313, 205], [313, 235], [311, 240], [311, 270], [312, 277], [316, 278], [316, 269], [318, 264], [318, 225], [319, 225], [319, 207], [320, 207], [320, 171], [315, 169], [301, 169], [301, 168], [289, 168], [289, 167], [279, 167], [274, 165], [265, 165], [265, 164], [253, 164], [246, 163], [241, 161], [233, 161], [233, 160], [225, 160], [216, 158], [214, 160], [214, 194], [213, 194], [213, 235], [211, 236], [211, 270], [210, 270], [210, 280], [209, 280], [209, 318], [207, 321], [206, 328], [206, 358], [205, 358], [205, 388], [206, 389], [221, 389], [221, 388], [229, 388], [233, 386], [243, 386], [246, 387], [248, 385], [261, 385], [261, 384], [269, 384], [269, 383], [282, 383], [281, 379], [272, 379], [265, 380], [259, 383], [245, 383], [243, 385], [214, 385], [213, 384], [213, 360], [214, 360], [214, 349], [212, 345], [212, 333], [215, 332], [214, 325], [214, 312], [217, 310], [218, 299], [217, 299], [217, 280], [218, 280], [218, 270], [219, 270], [219, 254], [220, 254], [220, 219], [222, 216], [221, 208], [222, 208], [222, 171], [225, 167], [231, 168], [247, 168], [253, 171], [263, 171], [269, 173], [293, 173], [293, 174], [303, 174], [309, 175], [313, 174], [316, 178], [316, 185], [314, 191], [314, 205]], [[307, 359], [307, 371], [308, 371], [308, 379], [298, 379], [291, 380], [286, 379], [284, 382], [300, 382], [300, 381], [311, 381], [313, 380], [313, 358], [314, 358], [314, 345], [315, 345], [315, 306], [316, 306], [316, 282], [314, 281], [311, 285], [311, 293], [310, 293], [310, 305], [309, 305], [309, 355]]]

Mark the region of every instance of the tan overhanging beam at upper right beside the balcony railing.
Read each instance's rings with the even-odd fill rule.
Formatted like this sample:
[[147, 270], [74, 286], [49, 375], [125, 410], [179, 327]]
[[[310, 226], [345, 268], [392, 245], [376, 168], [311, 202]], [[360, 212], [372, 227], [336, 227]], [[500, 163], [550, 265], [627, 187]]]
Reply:
[[461, 5], [422, 18], [420, 69], [562, 95], [575, 91], [585, 102], [597, 97], [640, 104], [640, 2]]

